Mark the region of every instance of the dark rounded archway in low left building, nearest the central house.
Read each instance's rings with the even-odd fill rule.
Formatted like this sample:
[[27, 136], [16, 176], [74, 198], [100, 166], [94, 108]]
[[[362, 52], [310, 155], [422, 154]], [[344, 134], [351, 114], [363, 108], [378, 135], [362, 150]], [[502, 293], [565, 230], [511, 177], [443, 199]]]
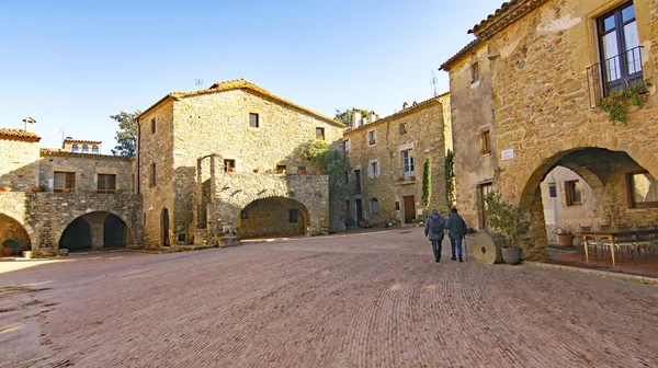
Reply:
[[126, 248], [134, 242], [131, 228], [118, 216], [97, 211], [71, 221], [59, 238], [59, 248], [69, 252]]

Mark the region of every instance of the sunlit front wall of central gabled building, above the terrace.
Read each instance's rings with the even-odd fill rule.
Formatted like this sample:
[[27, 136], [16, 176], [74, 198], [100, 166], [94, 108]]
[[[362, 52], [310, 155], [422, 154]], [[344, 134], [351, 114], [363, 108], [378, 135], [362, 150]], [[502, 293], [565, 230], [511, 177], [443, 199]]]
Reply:
[[[259, 114], [259, 128], [249, 127], [250, 113]], [[304, 143], [316, 139], [316, 127], [325, 128], [325, 140], [331, 145], [338, 145], [342, 135], [338, 125], [242, 90], [177, 101], [173, 126], [173, 225], [180, 230], [193, 226], [197, 158], [219, 153], [219, 171], [223, 160], [229, 159], [237, 173], [273, 172], [280, 164], [288, 173], [296, 173], [299, 165], [311, 172], [299, 153]]]

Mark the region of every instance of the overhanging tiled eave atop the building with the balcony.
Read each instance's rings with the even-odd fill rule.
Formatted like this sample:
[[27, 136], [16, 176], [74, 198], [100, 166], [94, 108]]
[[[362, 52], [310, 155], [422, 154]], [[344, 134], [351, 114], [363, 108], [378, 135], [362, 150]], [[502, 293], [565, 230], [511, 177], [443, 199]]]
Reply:
[[487, 19], [474, 25], [468, 33], [473, 33], [480, 38], [488, 38], [546, 1], [510, 0], [503, 2], [494, 14], [489, 14]]

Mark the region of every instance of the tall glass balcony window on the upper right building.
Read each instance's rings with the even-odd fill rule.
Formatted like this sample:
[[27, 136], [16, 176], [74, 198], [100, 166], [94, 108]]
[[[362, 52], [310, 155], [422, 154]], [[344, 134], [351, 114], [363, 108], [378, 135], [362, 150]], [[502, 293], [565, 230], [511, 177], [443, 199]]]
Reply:
[[635, 5], [626, 3], [599, 18], [599, 44], [605, 93], [643, 81]]

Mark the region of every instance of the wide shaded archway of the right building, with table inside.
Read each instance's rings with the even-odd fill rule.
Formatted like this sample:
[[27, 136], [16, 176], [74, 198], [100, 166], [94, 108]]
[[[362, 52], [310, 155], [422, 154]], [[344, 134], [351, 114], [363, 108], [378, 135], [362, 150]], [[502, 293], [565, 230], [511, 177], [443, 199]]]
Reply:
[[[563, 196], [559, 198], [560, 206], [574, 210], [587, 207], [590, 214], [578, 223], [570, 225], [574, 232], [578, 232], [580, 226], [597, 226], [597, 222], [605, 222], [614, 227], [622, 222], [644, 225], [656, 221], [658, 202], [651, 203], [651, 198], [647, 197], [646, 193], [645, 197], [638, 196], [634, 193], [636, 188], [632, 184], [635, 174], [642, 173], [648, 176], [650, 174], [626, 152], [592, 147], [559, 152], [544, 160], [523, 187], [520, 205], [530, 212], [530, 230], [523, 235], [524, 258], [546, 256], [548, 239], [540, 183], [548, 182], [548, 174], [558, 166], [577, 174], [579, 179], [575, 181], [581, 180], [582, 184], [589, 187], [587, 194], [569, 193], [578, 189], [574, 181], [559, 183]], [[639, 198], [643, 203], [638, 204], [634, 198]], [[646, 198], [649, 198], [648, 203], [645, 202]]]

